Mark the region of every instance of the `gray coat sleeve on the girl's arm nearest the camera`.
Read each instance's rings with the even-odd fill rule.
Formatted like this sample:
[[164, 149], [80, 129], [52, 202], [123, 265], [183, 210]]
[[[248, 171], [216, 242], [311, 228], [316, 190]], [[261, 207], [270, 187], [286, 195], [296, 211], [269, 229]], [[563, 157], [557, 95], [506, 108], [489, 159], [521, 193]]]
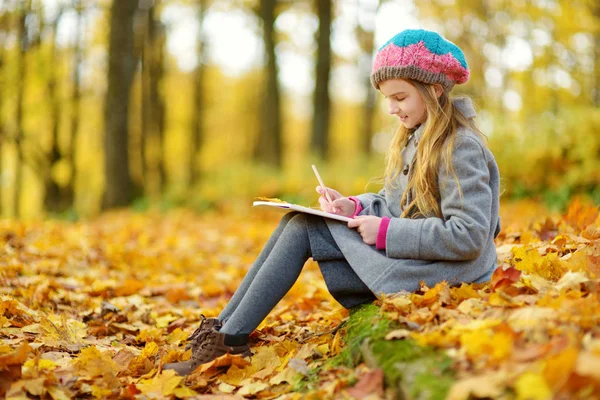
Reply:
[[[442, 218], [392, 218], [386, 238], [391, 258], [420, 260], [470, 260], [483, 251], [490, 235], [492, 189], [481, 144], [469, 136], [457, 136], [452, 165], [460, 182], [460, 198], [454, 175], [440, 162], [438, 183]], [[495, 227], [494, 227], [495, 228]]]

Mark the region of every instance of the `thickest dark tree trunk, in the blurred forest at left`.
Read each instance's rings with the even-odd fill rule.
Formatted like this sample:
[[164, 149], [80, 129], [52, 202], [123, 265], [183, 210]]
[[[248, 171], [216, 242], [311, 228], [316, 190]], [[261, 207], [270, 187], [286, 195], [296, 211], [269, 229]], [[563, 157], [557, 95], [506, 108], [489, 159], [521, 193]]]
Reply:
[[128, 116], [135, 72], [133, 19], [137, 0], [113, 0], [108, 47], [108, 89], [104, 106], [105, 182], [103, 209], [125, 206], [133, 199], [129, 174]]

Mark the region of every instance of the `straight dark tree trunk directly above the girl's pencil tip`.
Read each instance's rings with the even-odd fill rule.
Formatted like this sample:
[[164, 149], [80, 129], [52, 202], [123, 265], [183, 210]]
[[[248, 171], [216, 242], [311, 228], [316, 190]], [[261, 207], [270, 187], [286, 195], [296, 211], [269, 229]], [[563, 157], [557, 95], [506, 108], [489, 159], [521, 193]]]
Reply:
[[314, 93], [312, 148], [327, 159], [329, 154], [329, 73], [331, 71], [331, 0], [316, 0], [319, 15], [317, 69]]

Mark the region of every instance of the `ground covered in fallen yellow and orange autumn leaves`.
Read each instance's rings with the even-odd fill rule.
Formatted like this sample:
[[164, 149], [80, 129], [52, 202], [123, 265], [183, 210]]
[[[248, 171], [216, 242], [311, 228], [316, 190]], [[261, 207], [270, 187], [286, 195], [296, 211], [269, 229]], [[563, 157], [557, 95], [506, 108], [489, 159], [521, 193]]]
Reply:
[[390, 295], [369, 311], [385, 324], [361, 325], [309, 261], [251, 336], [251, 359], [163, 372], [189, 357], [200, 313], [218, 315], [279, 217], [2, 221], [0, 397], [600, 397], [600, 217], [579, 201], [564, 215], [503, 205], [492, 282]]

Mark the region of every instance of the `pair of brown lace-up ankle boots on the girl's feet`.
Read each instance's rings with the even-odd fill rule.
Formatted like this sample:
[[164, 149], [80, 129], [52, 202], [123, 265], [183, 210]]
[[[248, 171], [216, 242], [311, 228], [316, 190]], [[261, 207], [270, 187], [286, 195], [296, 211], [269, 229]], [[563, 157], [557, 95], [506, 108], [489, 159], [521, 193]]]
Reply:
[[189, 360], [165, 364], [163, 370], [172, 369], [179, 375], [189, 375], [199, 365], [210, 362], [226, 353], [241, 354], [243, 357], [250, 357], [252, 355], [248, 344], [227, 346], [225, 344], [225, 334], [211, 329], [206, 332], [202, 343], [192, 348], [192, 357]]

